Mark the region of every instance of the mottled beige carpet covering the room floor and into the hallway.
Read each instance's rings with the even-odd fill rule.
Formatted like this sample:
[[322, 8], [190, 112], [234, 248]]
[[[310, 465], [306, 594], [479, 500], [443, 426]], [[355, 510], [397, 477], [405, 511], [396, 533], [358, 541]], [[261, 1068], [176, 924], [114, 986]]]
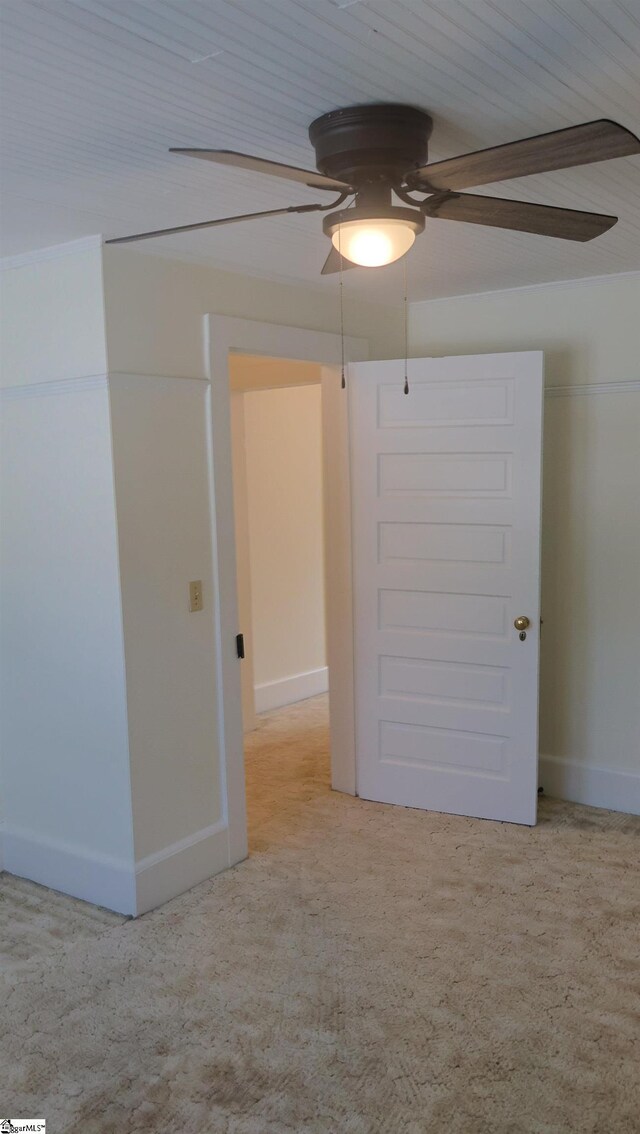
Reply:
[[264, 718], [252, 856], [138, 921], [9, 881], [30, 907], [5, 1112], [51, 1134], [637, 1134], [640, 819], [363, 803], [329, 792], [326, 745], [322, 699]]

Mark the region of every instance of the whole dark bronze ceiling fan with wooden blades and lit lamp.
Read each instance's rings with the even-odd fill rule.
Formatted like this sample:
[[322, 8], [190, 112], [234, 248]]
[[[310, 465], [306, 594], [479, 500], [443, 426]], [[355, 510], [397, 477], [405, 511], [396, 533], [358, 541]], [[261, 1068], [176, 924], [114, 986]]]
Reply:
[[[327, 274], [339, 271], [340, 266], [378, 268], [398, 260], [424, 229], [426, 218], [488, 225], [565, 240], [591, 240], [612, 228], [617, 217], [458, 191], [640, 153], [640, 139], [634, 134], [601, 118], [427, 164], [431, 129], [430, 116], [415, 107], [384, 103], [331, 110], [309, 127], [319, 172], [231, 150], [171, 149], [170, 153], [187, 158], [202, 158], [221, 166], [301, 181], [314, 189], [332, 191], [338, 197], [328, 205], [289, 205], [222, 217], [197, 225], [136, 232], [107, 240], [107, 244], [126, 244], [284, 213], [325, 212], [322, 228], [332, 243], [322, 268], [322, 273]], [[412, 193], [427, 196], [414, 197]], [[394, 203], [394, 195], [402, 204]]]

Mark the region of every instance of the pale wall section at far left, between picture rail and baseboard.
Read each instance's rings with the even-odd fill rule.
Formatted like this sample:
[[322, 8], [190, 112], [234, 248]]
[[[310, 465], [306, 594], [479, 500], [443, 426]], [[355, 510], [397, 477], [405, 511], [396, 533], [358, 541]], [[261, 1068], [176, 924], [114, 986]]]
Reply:
[[2, 404], [5, 865], [132, 913], [109, 400], [82, 387]]

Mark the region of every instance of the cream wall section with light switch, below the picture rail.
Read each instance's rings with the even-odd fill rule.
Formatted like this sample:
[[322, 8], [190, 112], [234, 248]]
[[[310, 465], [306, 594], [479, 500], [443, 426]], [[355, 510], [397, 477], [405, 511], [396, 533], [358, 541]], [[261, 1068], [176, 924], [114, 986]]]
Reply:
[[[196, 380], [110, 379], [138, 868], [222, 819], [207, 392]], [[196, 579], [204, 609], [190, 612]]]

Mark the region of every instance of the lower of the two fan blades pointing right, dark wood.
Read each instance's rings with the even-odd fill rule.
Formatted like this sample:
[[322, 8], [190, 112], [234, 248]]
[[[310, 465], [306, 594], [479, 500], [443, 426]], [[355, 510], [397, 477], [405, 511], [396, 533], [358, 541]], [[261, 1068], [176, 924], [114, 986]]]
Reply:
[[480, 197], [471, 193], [432, 197], [424, 201], [421, 209], [427, 217], [441, 220], [513, 228], [517, 232], [537, 232], [539, 236], [556, 236], [563, 240], [592, 240], [617, 221], [617, 217], [606, 217], [604, 213], [531, 205], [524, 201]]

